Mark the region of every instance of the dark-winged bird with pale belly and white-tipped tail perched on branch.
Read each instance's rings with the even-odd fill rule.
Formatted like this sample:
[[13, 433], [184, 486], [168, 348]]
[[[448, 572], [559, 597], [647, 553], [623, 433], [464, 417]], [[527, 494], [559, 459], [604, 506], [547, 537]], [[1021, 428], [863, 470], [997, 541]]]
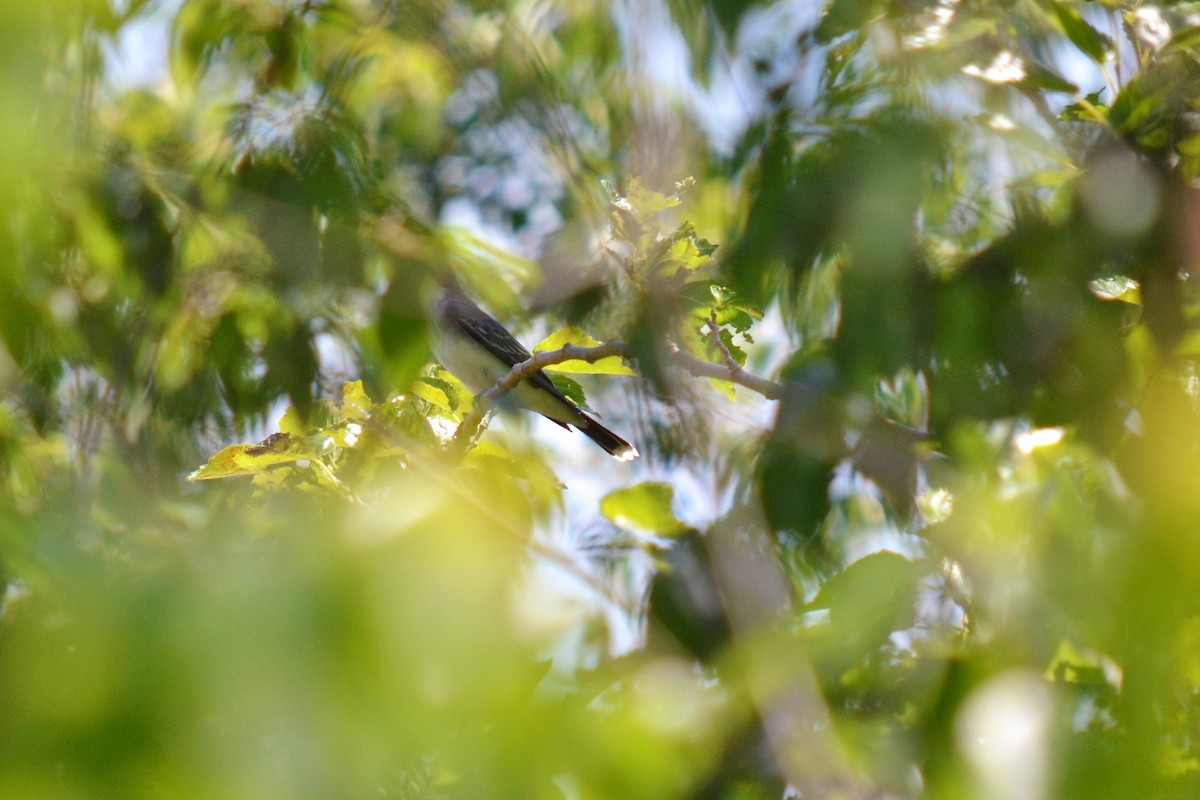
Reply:
[[[508, 329], [463, 294], [454, 278], [442, 279], [430, 321], [433, 356], [475, 393], [491, 389], [512, 367], [533, 357]], [[551, 422], [574, 427], [617, 461], [638, 457], [634, 445], [568, 399], [541, 369], [512, 387], [509, 396]]]

